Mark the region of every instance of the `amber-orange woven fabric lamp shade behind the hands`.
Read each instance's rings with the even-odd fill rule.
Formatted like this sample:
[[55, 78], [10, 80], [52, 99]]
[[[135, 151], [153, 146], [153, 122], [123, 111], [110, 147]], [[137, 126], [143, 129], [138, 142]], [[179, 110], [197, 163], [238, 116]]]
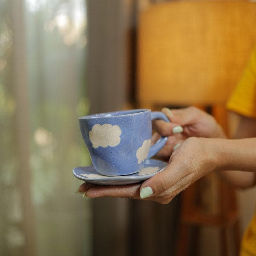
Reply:
[[256, 43], [256, 3], [171, 1], [138, 24], [141, 105], [222, 104]]

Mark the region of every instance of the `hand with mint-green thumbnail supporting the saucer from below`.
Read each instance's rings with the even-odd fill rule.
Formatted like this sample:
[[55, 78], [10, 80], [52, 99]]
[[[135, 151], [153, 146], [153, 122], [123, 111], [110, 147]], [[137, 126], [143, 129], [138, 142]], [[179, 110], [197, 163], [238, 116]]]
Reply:
[[169, 203], [190, 184], [216, 168], [214, 150], [204, 138], [191, 137], [184, 141], [170, 157], [170, 164], [142, 184], [100, 186], [82, 184], [78, 190], [87, 197], [125, 197]]

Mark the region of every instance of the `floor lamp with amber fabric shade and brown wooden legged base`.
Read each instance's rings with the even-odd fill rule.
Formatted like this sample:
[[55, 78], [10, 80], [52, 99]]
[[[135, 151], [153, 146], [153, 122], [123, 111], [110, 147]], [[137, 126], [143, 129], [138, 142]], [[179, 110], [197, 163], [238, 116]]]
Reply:
[[[255, 13], [256, 3], [241, 0], [170, 1], [140, 12], [138, 107], [210, 107], [212, 115], [228, 133], [225, 102], [256, 43]], [[214, 178], [210, 176], [210, 179]], [[216, 184], [216, 194], [221, 195], [216, 214], [204, 212], [202, 204], [198, 204], [199, 182], [184, 191], [178, 255], [187, 255], [189, 230], [202, 225], [220, 228], [222, 255], [228, 255], [227, 228], [233, 228], [238, 255], [236, 195], [227, 185], [219, 181]]]

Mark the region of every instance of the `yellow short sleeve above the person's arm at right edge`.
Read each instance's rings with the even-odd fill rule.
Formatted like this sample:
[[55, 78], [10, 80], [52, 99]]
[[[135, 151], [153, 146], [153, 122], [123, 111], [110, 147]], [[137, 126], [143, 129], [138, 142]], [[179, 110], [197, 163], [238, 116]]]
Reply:
[[256, 48], [226, 107], [243, 116], [256, 118]]

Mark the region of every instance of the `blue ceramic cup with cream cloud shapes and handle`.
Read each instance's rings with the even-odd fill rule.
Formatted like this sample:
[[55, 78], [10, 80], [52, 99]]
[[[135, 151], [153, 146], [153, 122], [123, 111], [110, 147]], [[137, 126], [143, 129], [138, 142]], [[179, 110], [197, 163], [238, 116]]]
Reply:
[[146, 159], [154, 156], [167, 141], [151, 144], [152, 120], [169, 122], [162, 112], [133, 109], [79, 118], [80, 131], [97, 172], [106, 176], [139, 172]]

